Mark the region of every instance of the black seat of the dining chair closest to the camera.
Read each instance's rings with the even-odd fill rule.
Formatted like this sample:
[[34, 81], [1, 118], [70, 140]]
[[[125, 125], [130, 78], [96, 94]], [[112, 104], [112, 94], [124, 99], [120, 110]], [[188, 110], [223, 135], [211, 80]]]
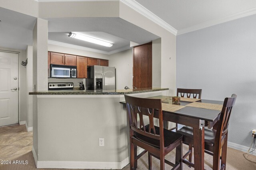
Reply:
[[[154, 126], [154, 127], [156, 129], [156, 134], [159, 135], [159, 133], [160, 133], [159, 127], [157, 127], [157, 126]], [[148, 132], [149, 125], [146, 125], [145, 129]], [[136, 132], [134, 132], [134, 137], [148, 145], [151, 145], [156, 148], [160, 148], [160, 142], [157, 139], [152, 139], [150, 137], [146, 137], [146, 136], [141, 135], [140, 133], [136, 133]], [[182, 139], [182, 137], [183, 137], [182, 134], [164, 129], [164, 147], [168, 147], [168, 146], [172, 145], [176, 141], [179, 141], [180, 139]]]

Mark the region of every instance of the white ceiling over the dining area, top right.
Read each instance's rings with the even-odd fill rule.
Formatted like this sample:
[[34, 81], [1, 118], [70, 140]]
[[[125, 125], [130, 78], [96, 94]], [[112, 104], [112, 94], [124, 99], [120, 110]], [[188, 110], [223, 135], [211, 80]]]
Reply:
[[256, 7], [256, 0], [135, 0], [176, 30]]

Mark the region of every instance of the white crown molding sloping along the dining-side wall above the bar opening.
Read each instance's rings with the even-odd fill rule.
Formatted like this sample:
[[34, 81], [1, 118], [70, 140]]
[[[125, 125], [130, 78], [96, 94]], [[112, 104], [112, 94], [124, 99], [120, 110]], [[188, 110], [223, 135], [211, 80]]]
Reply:
[[136, 10], [138, 13], [142, 14], [143, 16], [150, 19], [154, 23], [160, 25], [161, 27], [163, 27], [164, 29], [166, 29], [170, 33], [172, 33], [174, 35], [177, 35], [177, 29], [175, 29], [174, 27], [172, 27], [171, 25], [166, 23], [164, 20], [162, 20], [161, 18], [159, 18], [158, 16], [156, 16], [155, 14], [150, 12], [148, 9], [146, 9], [144, 6], [142, 6], [141, 4], [136, 2], [135, 0], [120, 0], [120, 2], [123, 2], [124, 4], [129, 6], [130, 8]]

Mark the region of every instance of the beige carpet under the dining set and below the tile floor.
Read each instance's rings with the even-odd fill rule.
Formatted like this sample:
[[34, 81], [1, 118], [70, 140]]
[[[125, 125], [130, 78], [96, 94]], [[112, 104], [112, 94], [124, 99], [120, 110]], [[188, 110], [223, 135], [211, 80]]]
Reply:
[[[184, 152], [187, 149], [184, 146]], [[228, 148], [227, 152], [227, 167], [226, 170], [256, 170], [256, 164], [249, 162], [248, 160], [244, 159], [243, 152], [240, 152], [235, 149]], [[171, 160], [174, 162], [175, 151], [170, 152], [170, 154], [166, 155], [167, 160]], [[256, 162], [256, 156], [250, 155], [248, 158], [254, 162]], [[34, 162], [32, 151], [28, 151], [25, 154], [21, 154], [19, 156], [14, 156], [12, 158], [8, 158], [7, 160], [11, 161], [11, 164], [0, 164], [0, 170], [36, 170], [36, 164]], [[13, 160], [23, 160], [24, 164], [13, 164]], [[28, 161], [26, 164], [25, 161]], [[158, 170], [159, 168], [159, 160], [156, 158], [152, 158], [152, 167], [154, 170]], [[212, 167], [212, 156], [205, 154], [205, 169], [210, 170]], [[138, 168], [137, 170], [147, 170], [148, 168], [148, 154], [145, 154], [138, 160]], [[170, 169], [171, 166], [166, 164], [166, 169]], [[194, 168], [189, 168], [185, 164], [183, 164], [184, 170], [193, 170]], [[39, 169], [39, 170], [56, 170], [56, 169]], [[122, 170], [129, 170], [129, 165], [124, 167]]]

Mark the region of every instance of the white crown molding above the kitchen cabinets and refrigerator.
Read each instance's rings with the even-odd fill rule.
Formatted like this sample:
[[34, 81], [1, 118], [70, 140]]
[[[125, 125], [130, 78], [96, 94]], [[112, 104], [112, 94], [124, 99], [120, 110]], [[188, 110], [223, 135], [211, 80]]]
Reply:
[[95, 53], [101, 53], [101, 54], [106, 54], [106, 55], [118, 53], [118, 52], [120, 52], [120, 51], [124, 51], [124, 50], [127, 50], [127, 49], [132, 48], [132, 47], [130, 47], [130, 46], [126, 46], [126, 47], [122, 47], [122, 48], [120, 48], [120, 49], [116, 49], [116, 50], [113, 50], [113, 51], [108, 52], [108, 51], [102, 51], [102, 50], [97, 50], [97, 49], [91, 49], [91, 48], [82, 47], [82, 46], [79, 46], [79, 45], [73, 45], [73, 44], [68, 44], [68, 43], [62, 43], [62, 42], [59, 42], [59, 41], [52, 41], [52, 40], [48, 40], [48, 44], [60, 45], [60, 46], [62, 46], [62, 47], [70, 47], [70, 48], [73, 48], [73, 49], [80, 49], [80, 50], [92, 51], [92, 52], [95, 52]]

